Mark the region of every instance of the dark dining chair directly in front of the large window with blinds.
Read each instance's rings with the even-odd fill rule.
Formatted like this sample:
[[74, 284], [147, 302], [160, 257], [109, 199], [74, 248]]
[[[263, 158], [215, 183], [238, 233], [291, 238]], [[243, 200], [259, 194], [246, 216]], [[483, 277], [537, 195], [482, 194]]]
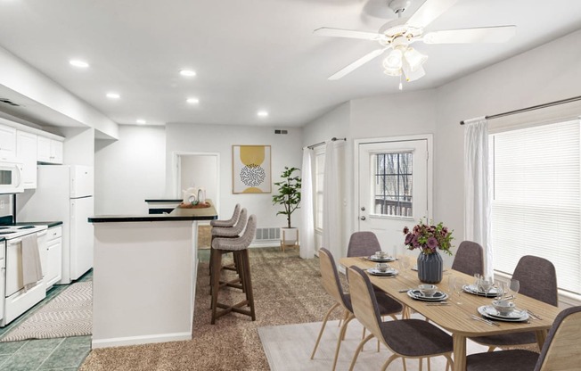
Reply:
[[[525, 255], [514, 268], [512, 279], [520, 281], [519, 295], [527, 295], [555, 307], [559, 305], [557, 273], [551, 261]], [[534, 332], [498, 334], [474, 337], [471, 340], [487, 345], [488, 351], [491, 351], [501, 346], [536, 344], [536, 334]]]

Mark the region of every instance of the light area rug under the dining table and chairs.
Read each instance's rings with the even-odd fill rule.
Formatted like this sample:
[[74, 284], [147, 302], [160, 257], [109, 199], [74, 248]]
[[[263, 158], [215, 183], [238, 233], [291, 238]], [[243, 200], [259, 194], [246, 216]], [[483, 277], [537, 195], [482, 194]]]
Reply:
[[[423, 318], [419, 315], [413, 317]], [[339, 321], [329, 321], [315, 353], [315, 359], [311, 358], [311, 353], [315, 346], [316, 337], [321, 329], [321, 322], [283, 325], [283, 326], [264, 326], [258, 328], [260, 341], [266, 353], [266, 359], [272, 371], [287, 370], [312, 370], [328, 371], [332, 369], [335, 349], [337, 347], [337, 336], [340, 327]], [[353, 320], [349, 322], [345, 340], [341, 342], [339, 359], [336, 370], [348, 370], [351, 359], [359, 342], [363, 327], [359, 322]], [[470, 340], [466, 344], [468, 354], [487, 351], [487, 347], [479, 345]], [[380, 351], [377, 351], [377, 342], [370, 340], [365, 344], [364, 351], [359, 354], [356, 361], [355, 369], [357, 371], [380, 370], [383, 364], [393, 353], [385, 346], [381, 345]], [[427, 366], [424, 359], [423, 366]], [[408, 370], [415, 370], [419, 367], [417, 359], [408, 359], [405, 361]], [[445, 370], [446, 359], [444, 357], [435, 357], [430, 360], [432, 370]], [[394, 360], [389, 365], [389, 371], [403, 370], [403, 361]], [[427, 369], [427, 368], [424, 368]]]

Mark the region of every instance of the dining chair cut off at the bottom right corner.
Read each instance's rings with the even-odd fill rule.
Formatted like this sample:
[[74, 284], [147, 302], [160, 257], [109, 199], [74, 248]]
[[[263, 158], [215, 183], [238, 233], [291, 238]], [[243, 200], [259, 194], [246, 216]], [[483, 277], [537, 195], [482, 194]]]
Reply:
[[581, 348], [581, 306], [564, 309], [552, 323], [541, 353], [531, 350], [500, 350], [471, 354], [467, 371], [578, 370]]

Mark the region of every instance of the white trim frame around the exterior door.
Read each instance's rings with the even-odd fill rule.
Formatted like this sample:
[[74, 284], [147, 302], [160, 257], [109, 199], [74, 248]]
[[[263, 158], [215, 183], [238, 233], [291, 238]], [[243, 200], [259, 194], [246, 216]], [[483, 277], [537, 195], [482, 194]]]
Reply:
[[433, 200], [434, 200], [434, 136], [432, 134], [421, 134], [415, 136], [385, 136], [379, 138], [361, 138], [355, 139], [353, 141], [353, 174], [354, 174], [354, 185], [353, 185], [353, 218], [351, 230], [358, 230], [358, 220], [359, 220], [359, 145], [361, 144], [374, 144], [374, 143], [385, 143], [385, 142], [409, 142], [416, 140], [425, 140], [428, 144], [428, 219], [433, 218]]

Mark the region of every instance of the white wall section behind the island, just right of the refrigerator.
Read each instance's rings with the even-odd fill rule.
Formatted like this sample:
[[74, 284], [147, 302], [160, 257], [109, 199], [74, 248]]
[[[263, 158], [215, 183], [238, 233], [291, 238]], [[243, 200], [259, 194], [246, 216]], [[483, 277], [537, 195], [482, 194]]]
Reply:
[[163, 127], [120, 126], [119, 141], [96, 140], [95, 214], [147, 214], [145, 199], [165, 194]]

